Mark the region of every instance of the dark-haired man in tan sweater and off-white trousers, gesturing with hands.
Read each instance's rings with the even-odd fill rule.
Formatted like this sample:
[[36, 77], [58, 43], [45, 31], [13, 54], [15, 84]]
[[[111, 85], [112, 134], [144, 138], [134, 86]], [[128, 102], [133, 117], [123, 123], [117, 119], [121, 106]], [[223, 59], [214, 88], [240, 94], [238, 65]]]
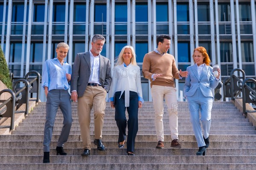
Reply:
[[175, 58], [167, 51], [171, 45], [169, 35], [157, 37], [157, 49], [145, 54], [142, 73], [151, 84], [151, 95], [155, 110], [155, 126], [157, 131], [157, 148], [163, 148], [163, 99], [166, 101], [169, 112], [169, 126], [171, 130], [171, 147], [181, 148], [178, 141], [178, 113], [177, 96], [174, 79], [187, 77], [187, 71], [179, 71]]

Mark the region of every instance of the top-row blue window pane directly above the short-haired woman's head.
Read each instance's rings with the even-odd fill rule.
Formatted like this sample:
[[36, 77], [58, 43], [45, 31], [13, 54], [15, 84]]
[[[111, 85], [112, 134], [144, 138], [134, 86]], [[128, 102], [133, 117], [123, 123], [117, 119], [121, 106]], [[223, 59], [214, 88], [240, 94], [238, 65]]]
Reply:
[[65, 22], [65, 4], [55, 3], [53, 4], [53, 22]]

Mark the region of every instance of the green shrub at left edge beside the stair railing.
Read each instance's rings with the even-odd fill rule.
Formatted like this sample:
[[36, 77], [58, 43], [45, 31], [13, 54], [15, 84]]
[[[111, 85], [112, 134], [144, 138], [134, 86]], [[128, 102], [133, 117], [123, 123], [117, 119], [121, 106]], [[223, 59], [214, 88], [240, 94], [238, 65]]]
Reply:
[[9, 69], [6, 63], [6, 59], [3, 55], [3, 50], [0, 46], [0, 80], [5, 84], [8, 88], [12, 89], [12, 81], [9, 76]]

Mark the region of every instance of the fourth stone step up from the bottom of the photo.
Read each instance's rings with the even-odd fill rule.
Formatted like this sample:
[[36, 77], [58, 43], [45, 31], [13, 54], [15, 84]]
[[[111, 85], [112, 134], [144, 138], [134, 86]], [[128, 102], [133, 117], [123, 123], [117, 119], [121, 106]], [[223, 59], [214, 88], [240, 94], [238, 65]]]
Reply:
[[[92, 148], [96, 148], [96, 145], [93, 144], [93, 138], [91, 138], [92, 140]], [[210, 146], [209, 148], [252, 148], [255, 149], [255, 142], [247, 142], [247, 141], [228, 141], [229, 139], [225, 139], [223, 141], [212, 141], [212, 138], [210, 136]], [[117, 141], [118, 141], [118, 137], [116, 136], [116, 138], [112, 139], [113, 141], [110, 142], [107, 139], [103, 139], [103, 144], [105, 145], [106, 148], [116, 148], [117, 147]], [[137, 140], [137, 138], [136, 138]], [[182, 148], [198, 148], [197, 142], [195, 141], [195, 137], [186, 141], [183, 140], [179, 140], [179, 143], [181, 144]], [[26, 146], [26, 148], [43, 148], [43, 140], [41, 141], [5, 141], [5, 142], [1, 142], [0, 148], [20, 148], [21, 146]], [[56, 148], [57, 146], [57, 140], [52, 140], [50, 146], [52, 148]], [[155, 148], [157, 146], [157, 141], [136, 141], [135, 142], [135, 149], [137, 148]], [[164, 146], [165, 148], [171, 148], [171, 141], [165, 141], [164, 142]], [[82, 148], [82, 141], [72, 141], [72, 140], [68, 140], [68, 142], [66, 142], [64, 144], [65, 148]], [[125, 145], [126, 147], [126, 145]], [[82, 150], [81, 150], [82, 151]]]

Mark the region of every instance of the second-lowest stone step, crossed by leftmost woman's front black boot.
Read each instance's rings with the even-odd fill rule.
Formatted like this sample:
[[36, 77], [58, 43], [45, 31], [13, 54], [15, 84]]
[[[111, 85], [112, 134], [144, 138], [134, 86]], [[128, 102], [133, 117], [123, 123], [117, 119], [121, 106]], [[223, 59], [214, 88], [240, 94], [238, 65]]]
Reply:
[[[1, 163], [41, 163], [43, 156], [0, 156]], [[256, 156], [50, 156], [51, 163], [248, 163], [255, 164]]]

